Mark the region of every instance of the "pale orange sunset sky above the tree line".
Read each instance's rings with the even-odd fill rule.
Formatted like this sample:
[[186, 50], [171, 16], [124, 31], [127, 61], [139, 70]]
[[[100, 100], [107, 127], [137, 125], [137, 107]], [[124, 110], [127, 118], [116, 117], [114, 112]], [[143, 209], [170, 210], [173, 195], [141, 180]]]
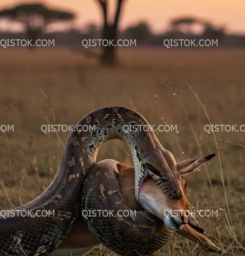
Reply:
[[[35, 0], [33, 0], [35, 1]], [[33, 2], [25, 1], [25, 2]], [[36, 0], [38, 1], [38, 0]], [[110, 13], [113, 13], [116, 0], [109, 0]], [[23, 1], [0, 0], [0, 8]], [[52, 7], [74, 10], [82, 26], [94, 21], [101, 22], [101, 12], [97, 0], [46, 0]], [[180, 15], [195, 15], [211, 20], [216, 25], [226, 25], [227, 31], [245, 33], [245, 0], [125, 0], [120, 28], [146, 20], [154, 32], [167, 29], [168, 20]], [[0, 28], [4, 28], [0, 23]]]

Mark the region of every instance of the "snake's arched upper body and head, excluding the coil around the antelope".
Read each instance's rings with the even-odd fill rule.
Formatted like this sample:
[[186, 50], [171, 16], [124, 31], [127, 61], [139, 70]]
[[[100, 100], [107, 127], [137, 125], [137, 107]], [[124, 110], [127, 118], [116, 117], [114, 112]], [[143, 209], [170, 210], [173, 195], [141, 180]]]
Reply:
[[[95, 129], [84, 129], [85, 125]], [[124, 125], [137, 125], [138, 129], [125, 132]], [[148, 169], [158, 176], [167, 176], [167, 182], [161, 187], [167, 196], [181, 198], [180, 175], [176, 171], [173, 155], [161, 146], [152, 130], [140, 131], [140, 125], [150, 127], [139, 113], [121, 106], [100, 108], [83, 117], [66, 140], [58, 170], [49, 187], [31, 202], [13, 209], [8, 216], [0, 217], [0, 255], [43, 256], [59, 246], [82, 213], [85, 179], [95, 165], [101, 144], [110, 139], [124, 140], [131, 150], [137, 201]], [[104, 183], [110, 182], [105, 180]], [[115, 186], [119, 187], [119, 183]], [[28, 212], [29, 216], [23, 217], [20, 211]], [[42, 212], [45, 216], [48, 211], [55, 214], [38, 217], [37, 211], [38, 215]]]

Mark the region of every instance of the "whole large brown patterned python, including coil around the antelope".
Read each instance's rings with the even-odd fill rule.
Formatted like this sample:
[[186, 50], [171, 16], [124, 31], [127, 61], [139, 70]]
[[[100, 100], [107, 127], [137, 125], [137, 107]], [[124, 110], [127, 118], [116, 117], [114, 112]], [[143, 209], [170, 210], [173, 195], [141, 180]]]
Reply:
[[[142, 129], [143, 126], [148, 129]], [[128, 127], [137, 129], [129, 131]], [[83, 210], [93, 208], [93, 205], [101, 205], [98, 197], [101, 192], [98, 189], [100, 180], [104, 186], [118, 191], [114, 198], [116, 201], [105, 200], [104, 209], [111, 208], [109, 203], [118, 209], [116, 202], [122, 200], [122, 195], [119, 182], [113, 176], [113, 173], [116, 175], [113, 163], [107, 167], [107, 171], [111, 170], [108, 171], [111, 178], [105, 175], [106, 172], [100, 173], [100, 176], [93, 175], [98, 171], [96, 159], [99, 149], [104, 142], [111, 139], [123, 140], [130, 148], [135, 170], [137, 202], [140, 188], [149, 172], [161, 177], [163, 182], [157, 184], [164, 194], [172, 199], [182, 198], [181, 177], [177, 172], [174, 156], [162, 147], [146, 119], [137, 111], [123, 106], [99, 108], [80, 119], [69, 134], [57, 172], [48, 188], [32, 201], [8, 211], [7, 216], [0, 216], [1, 256], [45, 256], [53, 252], [68, 235]], [[93, 191], [97, 196], [92, 196]], [[90, 205], [91, 202], [93, 205]], [[126, 206], [122, 204], [120, 207]], [[52, 214], [45, 216], [43, 212], [46, 215], [48, 212]], [[121, 255], [138, 255], [138, 251], [132, 251], [133, 248], [131, 251], [125, 249], [130, 240], [131, 247], [132, 244], [137, 245], [136, 249], [142, 254], [162, 247], [170, 239], [171, 231], [150, 213], [143, 212], [138, 215], [140, 219], [135, 223], [127, 219], [103, 220], [94, 217], [87, 224], [102, 244], [115, 252], [122, 252]], [[130, 225], [135, 226], [134, 229], [129, 228]], [[149, 228], [151, 225], [152, 228]], [[121, 237], [124, 242], [117, 246], [112, 234], [116, 234], [118, 239]]]

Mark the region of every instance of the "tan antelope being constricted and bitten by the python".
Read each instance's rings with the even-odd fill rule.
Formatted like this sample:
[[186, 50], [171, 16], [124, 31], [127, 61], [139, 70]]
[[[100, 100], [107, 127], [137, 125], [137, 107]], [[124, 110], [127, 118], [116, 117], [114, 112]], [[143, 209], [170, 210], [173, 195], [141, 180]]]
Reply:
[[[197, 164], [196, 160], [198, 161], [198, 159], [200, 158], [189, 159], [177, 163], [177, 170], [179, 174], [182, 176], [192, 172], [201, 164], [204, 164], [209, 160], [202, 160], [201, 164]], [[151, 176], [146, 177], [140, 191], [140, 205], [135, 198], [134, 167], [118, 163], [117, 168], [123, 200], [131, 210], [145, 209], [159, 217], [161, 220], [164, 220], [167, 228], [176, 231], [176, 233], [194, 241], [195, 243], [200, 243], [202, 249], [206, 249], [210, 252], [223, 252], [223, 250], [219, 249], [208, 238], [201, 234], [204, 233], [204, 230], [193, 215], [189, 214], [188, 217], [182, 217], [183, 215], [179, 215], [174, 220], [171, 219], [171, 217], [164, 216], [163, 212], [166, 210], [177, 210], [181, 213], [181, 211], [188, 210], [190, 207], [190, 203], [186, 198], [187, 184], [185, 180], [181, 180], [181, 186], [184, 194], [182, 199], [174, 200], [162, 193], [161, 189]], [[181, 223], [178, 222], [180, 219]], [[71, 228], [67, 237], [54, 252], [49, 254], [49, 256], [85, 255], [98, 245], [100, 245], [100, 242], [93, 236], [89, 228], [86, 226], [83, 217], [80, 216], [75, 225]], [[154, 253], [150, 255], [153, 256]]]

